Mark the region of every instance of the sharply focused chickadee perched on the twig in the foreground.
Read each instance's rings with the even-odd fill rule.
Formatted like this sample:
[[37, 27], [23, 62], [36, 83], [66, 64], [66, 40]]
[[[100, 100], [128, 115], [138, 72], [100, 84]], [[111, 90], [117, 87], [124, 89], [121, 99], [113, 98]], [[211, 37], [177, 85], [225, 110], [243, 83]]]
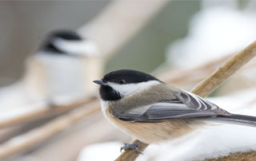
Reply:
[[[94, 83], [101, 85], [104, 116], [143, 143], [176, 139], [213, 121], [256, 127], [254, 116], [231, 114], [193, 93], [136, 70], [116, 70]], [[122, 149], [140, 152], [138, 144], [126, 144]]]

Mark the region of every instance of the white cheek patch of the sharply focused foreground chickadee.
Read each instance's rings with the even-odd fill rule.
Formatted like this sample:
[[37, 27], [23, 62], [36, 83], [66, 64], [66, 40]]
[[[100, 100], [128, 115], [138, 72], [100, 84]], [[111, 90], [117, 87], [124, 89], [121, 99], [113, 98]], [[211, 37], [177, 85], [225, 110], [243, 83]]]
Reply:
[[111, 88], [114, 88], [115, 91], [119, 92], [122, 96], [128, 96], [134, 94], [135, 92], [141, 92], [147, 88], [150, 88], [153, 85], [161, 84], [159, 81], [147, 81], [138, 84], [115, 84], [108, 82]]

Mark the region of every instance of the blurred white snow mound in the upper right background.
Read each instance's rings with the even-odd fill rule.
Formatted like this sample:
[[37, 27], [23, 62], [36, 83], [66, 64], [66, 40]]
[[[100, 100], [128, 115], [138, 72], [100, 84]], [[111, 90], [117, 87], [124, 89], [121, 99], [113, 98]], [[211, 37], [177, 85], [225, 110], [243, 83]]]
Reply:
[[230, 53], [255, 41], [256, 17], [233, 7], [207, 7], [190, 20], [187, 37], [167, 49], [167, 61], [174, 67], [190, 68]]

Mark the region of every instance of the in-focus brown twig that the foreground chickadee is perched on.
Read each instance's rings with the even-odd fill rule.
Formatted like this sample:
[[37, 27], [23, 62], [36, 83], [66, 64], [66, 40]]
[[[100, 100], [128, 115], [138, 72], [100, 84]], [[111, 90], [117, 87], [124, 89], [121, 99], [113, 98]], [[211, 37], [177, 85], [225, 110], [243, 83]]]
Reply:
[[[231, 57], [230, 60], [226, 61], [215, 73], [206, 80], [199, 83], [192, 92], [198, 96], [205, 97], [218, 88], [218, 85], [222, 84], [228, 77], [234, 74], [238, 69], [245, 65], [250, 59], [256, 56], [256, 41], [243, 49], [240, 53]], [[133, 143], [139, 140], [134, 140]], [[139, 149], [144, 151], [149, 144], [142, 144]], [[132, 150], [127, 150], [122, 153], [115, 161], [133, 161], [138, 157], [138, 153]]]

